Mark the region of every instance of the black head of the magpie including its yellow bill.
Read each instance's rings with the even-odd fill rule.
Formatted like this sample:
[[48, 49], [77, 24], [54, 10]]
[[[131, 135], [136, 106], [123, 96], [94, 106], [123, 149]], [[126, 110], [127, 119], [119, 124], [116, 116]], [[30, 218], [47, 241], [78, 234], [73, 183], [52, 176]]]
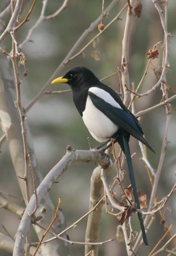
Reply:
[[75, 67], [69, 70], [64, 76], [58, 77], [52, 81], [52, 84], [67, 83], [71, 86], [72, 90], [77, 90], [82, 87], [89, 88], [94, 86], [99, 79], [85, 67]]

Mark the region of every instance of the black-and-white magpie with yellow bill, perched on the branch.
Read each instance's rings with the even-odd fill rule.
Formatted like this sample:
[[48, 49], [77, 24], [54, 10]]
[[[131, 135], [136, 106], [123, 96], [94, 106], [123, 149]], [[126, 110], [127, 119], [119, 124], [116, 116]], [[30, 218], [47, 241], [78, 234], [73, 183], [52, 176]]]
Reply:
[[129, 179], [133, 188], [136, 209], [139, 210], [138, 219], [143, 242], [148, 245], [129, 150], [130, 135], [145, 144], [152, 152], [154, 150], [143, 138], [142, 127], [137, 118], [126, 108], [112, 88], [101, 83], [98, 77], [85, 67], [72, 68], [64, 76], [57, 77], [52, 81], [52, 84], [57, 83], [67, 83], [71, 86], [73, 102], [95, 140], [106, 143], [113, 138], [121, 146], [128, 163]]

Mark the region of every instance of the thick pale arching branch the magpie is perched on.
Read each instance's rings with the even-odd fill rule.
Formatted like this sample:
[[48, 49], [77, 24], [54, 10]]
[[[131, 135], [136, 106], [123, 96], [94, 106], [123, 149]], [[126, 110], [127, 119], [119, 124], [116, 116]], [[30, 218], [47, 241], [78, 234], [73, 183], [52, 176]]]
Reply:
[[[54, 168], [50, 170], [50, 172], [48, 172], [47, 176], [45, 177], [45, 179], [42, 180], [40, 186], [38, 187], [38, 204], [40, 204], [43, 196], [47, 194], [52, 184], [54, 184], [54, 182], [70, 166], [70, 164], [78, 161], [93, 161], [100, 164], [101, 166], [105, 166], [105, 168], [107, 168], [110, 164], [109, 157], [105, 153], [103, 154], [103, 152], [99, 153], [97, 151], [71, 150], [71, 148], [68, 147], [66, 155], [62, 157], [61, 161], [59, 161], [59, 163], [57, 163]], [[13, 256], [23, 255], [25, 238], [31, 225], [31, 217], [33, 218], [30, 212], [34, 211], [35, 205], [36, 197], [35, 195], [33, 195], [31, 196], [29, 204], [26, 207], [26, 210], [24, 212], [24, 215], [22, 216], [22, 220], [20, 221], [20, 225], [16, 233]]]

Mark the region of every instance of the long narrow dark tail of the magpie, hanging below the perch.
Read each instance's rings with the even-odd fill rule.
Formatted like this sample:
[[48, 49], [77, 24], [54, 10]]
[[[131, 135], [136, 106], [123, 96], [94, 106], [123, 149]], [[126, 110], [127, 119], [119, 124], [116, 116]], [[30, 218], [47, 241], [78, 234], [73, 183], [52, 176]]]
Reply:
[[[123, 139], [123, 146], [124, 146], [124, 154], [126, 155], [126, 160], [127, 160], [127, 164], [128, 164], [129, 179], [131, 180], [131, 186], [133, 188], [133, 195], [135, 198], [135, 203], [137, 205], [137, 209], [140, 209], [140, 202], [139, 202], [137, 188], [136, 188], [135, 175], [133, 172], [133, 165], [132, 165], [132, 161], [131, 161], [131, 154], [130, 154], [130, 150], [129, 150], [128, 138], [126, 138], [125, 135], [122, 135], [122, 139]], [[142, 214], [140, 212], [138, 212], [138, 219], [140, 221], [143, 243], [145, 245], [149, 245], [148, 241], [147, 241], [147, 236], [145, 233], [145, 227], [143, 225]]]

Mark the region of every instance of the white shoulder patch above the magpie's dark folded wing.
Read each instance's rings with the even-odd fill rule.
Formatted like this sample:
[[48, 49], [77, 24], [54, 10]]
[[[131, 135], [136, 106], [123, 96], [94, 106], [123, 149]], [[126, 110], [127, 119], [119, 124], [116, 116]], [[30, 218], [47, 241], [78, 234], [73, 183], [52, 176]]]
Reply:
[[[110, 95], [110, 93], [106, 92], [103, 89], [100, 89], [98, 87], [91, 87], [89, 89], [89, 92], [94, 93], [96, 96], [98, 96], [99, 98], [105, 100], [106, 102], [108, 102], [109, 104], [111, 104], [112, 106], [114, 106], [115, 108], [121, 108], [121, 106], [119, 105], [119, 103], [117, 103], [115, 101], [115, 99]], [[122, 108], [121, 108], [122, 109]]]

